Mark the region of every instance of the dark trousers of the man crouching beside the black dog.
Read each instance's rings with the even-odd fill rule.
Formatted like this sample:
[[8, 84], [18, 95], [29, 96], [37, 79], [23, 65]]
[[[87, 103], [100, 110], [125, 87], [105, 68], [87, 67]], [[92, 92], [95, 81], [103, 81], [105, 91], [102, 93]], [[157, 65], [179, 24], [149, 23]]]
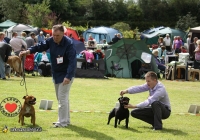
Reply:
[[162, 119], [167, 119], [171, 111], [161, 102], [155, 101], [151, 107], [137, 108], [131, 112], [131, 116], [151, 124], [154, 128], [162, 129]]

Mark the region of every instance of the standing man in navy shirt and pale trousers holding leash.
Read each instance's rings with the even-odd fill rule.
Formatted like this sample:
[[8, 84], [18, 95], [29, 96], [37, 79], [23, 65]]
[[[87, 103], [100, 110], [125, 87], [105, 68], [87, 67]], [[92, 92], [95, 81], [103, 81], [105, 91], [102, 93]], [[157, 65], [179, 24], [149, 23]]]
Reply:
[[22, 51], [20, 56], [50, 49], [52, 77], [59, 104], [58, 121], [53, 124], [54, 127], [66, 127], [70, 124], [69, 91], [75, 76], [76, 50], [73, 40], [64, 36], [64, 26], [54, 25], [52, 35], [46, 42]]

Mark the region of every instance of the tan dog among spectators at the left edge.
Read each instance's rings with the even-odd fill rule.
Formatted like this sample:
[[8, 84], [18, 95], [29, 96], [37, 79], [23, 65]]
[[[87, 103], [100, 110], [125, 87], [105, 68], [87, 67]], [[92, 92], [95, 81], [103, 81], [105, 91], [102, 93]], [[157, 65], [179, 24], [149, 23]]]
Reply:
[[19, 75], [22, 76], [22, 62], [18, 56], [9, 56], [8, 61], [6, 63], [9, 64], [14, 71], [16, 71]]

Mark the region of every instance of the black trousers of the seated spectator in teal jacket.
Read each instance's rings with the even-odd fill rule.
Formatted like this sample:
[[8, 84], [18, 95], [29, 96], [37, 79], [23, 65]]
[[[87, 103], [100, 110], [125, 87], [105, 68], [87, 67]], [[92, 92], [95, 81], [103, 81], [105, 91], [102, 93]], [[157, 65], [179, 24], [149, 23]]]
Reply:
[[51, 63], [47, 61], [41, 61], [38, 64], [38, 69], [42, 70], [43, 76], [51, 76]]

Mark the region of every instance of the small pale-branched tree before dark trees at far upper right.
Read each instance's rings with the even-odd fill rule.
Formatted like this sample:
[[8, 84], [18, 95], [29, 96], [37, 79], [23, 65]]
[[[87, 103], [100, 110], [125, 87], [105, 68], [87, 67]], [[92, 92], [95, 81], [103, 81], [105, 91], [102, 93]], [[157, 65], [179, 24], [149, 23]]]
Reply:
[[186, 31], [191, 27], [196, 27], [198, 26], [196, 19], [197, 17], [192, 17], [190, 12], [185, 16], [180, 16], [176, 23], [176, 28]]

